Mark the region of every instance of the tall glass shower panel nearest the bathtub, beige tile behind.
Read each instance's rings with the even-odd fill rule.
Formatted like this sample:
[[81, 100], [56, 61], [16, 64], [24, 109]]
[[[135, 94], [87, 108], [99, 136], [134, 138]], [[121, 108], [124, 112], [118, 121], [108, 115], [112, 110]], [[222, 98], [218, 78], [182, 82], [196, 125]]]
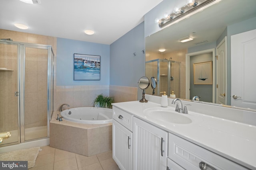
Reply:
[[48, 49], [33, 45], [24, 49], [24, 140], [28, 141], [48, 135]]

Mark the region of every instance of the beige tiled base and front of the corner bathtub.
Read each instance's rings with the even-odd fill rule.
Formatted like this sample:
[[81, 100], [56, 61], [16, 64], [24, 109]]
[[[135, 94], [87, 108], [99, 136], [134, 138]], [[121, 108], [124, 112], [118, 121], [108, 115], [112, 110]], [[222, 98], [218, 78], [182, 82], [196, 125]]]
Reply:
[[56, 120], [54, 111], [50, 121], [50, 147], [84, 156], [112, 150], [112, 123], [82, 124]]

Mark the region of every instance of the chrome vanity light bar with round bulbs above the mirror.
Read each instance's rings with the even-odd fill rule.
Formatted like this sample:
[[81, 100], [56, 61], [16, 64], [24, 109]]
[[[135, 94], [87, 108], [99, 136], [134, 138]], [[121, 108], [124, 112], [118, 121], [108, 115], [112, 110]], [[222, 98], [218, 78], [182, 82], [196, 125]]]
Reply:
[[176, 6], [172, 14], [165, 14], [164, 17], [158, 21], [158, 26], [162, 28], [214, 1], [216, 0], [202, 0], [202, 2], [196, 2], [196, 0], [187, 0], [185, 6], [181, 8]]

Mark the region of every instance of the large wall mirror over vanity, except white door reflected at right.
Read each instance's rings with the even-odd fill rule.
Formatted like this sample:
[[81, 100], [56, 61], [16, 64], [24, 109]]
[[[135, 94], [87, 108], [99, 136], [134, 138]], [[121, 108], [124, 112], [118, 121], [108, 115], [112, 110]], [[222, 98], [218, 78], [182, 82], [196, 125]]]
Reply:
[[[240, 100], [231, 88], [235, 74], [231, 68], [231, 35], [256, 29], [255, 9], [255, 0], [222, 0], [146, 37], [146, 76], [157, 78], [157, 88], [162, 88], [156, 88], [155, 95], [160, 96], [158, 91], [164, 90], [168, 96], [175, 94], [176, 98], [187, 100], [199, 96], [202, 102], [224, 106], [233, 106], [236, 97]], [[180, 42], [184, 37], [193, 40]], [[198, 82], [195, 77], [201, 80]], [[256, 94], [256, 89], [251, 93]], [[256, 102], [242, 109], [245, 108], [256, 111]]]

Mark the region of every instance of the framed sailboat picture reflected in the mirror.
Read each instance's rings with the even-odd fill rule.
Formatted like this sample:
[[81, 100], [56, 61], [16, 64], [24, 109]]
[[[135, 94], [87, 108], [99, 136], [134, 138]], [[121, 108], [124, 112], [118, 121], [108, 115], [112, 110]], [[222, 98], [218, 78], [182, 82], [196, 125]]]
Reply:
[[212, 61], [194, 63], [194, 84], [212, 84]]

